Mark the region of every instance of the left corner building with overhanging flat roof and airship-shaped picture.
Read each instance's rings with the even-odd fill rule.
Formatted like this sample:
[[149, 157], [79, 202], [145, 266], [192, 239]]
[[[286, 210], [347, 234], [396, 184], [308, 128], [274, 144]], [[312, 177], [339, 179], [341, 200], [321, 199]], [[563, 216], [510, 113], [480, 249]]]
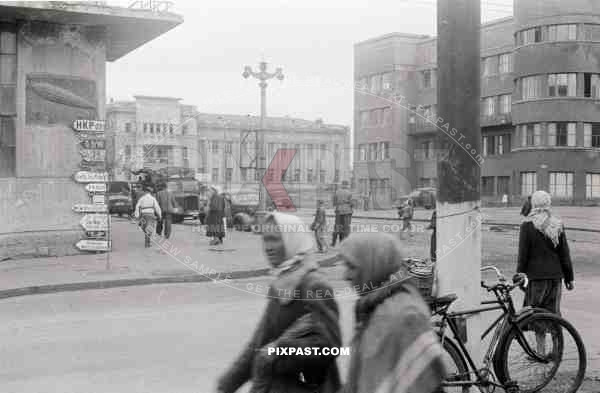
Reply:
[[79, 253], [73, 205], [90, 197], [73, 179], [73, 122], [105, 119], [107, 61], [181, 22], [96, 3], [0, 4], [0, 259]]

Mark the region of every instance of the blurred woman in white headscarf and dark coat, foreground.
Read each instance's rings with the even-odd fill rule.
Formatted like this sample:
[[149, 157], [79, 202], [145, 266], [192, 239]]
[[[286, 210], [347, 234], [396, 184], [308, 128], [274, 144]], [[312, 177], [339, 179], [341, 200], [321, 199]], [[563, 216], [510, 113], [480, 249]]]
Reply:
[[[288, 214], [265, 219], [263, 246], [275, 279], [250, 342], [218, 381], [221, 393], [247, 381], [251, 393], [334, 393], [340, 387], [335, 356], [314, 352], [339, 347], [341, 332], [333, 289], [318, 272], [313, 240], [303, 226]], [[269, 348], [301, 348], [304, 354], [269, 354]]]

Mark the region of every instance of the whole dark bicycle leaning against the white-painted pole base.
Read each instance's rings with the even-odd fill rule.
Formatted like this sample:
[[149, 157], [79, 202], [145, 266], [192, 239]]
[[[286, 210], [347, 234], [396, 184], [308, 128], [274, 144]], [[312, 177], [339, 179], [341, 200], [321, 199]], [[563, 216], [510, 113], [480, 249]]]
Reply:
[[[509, 284], [495, 266], [486, 266], [481, 269], [482, 272], [488, 270], [496, 273], [498, 282], [487, 285], [481, 281], [481, 286], [496, 297], [495, 300], [483, 301], [481, 304], [484, 307], [448, 312], [452, 303], [457, 299], [454, 294], [439, 297], [430, 302], [432, 317], [441, 318], [433, 322], [434, 327], [440, 336], [445, 352], [453, 363], [452, 369], [456, 369], [454, 372], [450, 371], [443, 382], [444, 391], [454, 387], [462, 393], [468, 393], [471, 386], [477, 386], [483, 393], [491, 393], [496, 387], [504, 389], [507, 393], [534, 393], [548, 388], [549, 384], [554, 381], [558, 386], [544, 389], [544, 393], [575, 393], [583, 382], [586, 369], [585, 347], [577, 330], [560, 316], [549, 313], [545, 309], [524, 307], [517, 312], [511, 292], [518, 287], [527, 287], [527, 279]], [[465, 346], [467, 340], [464, 317], [494, 310], [501, 310], [502, 314], [481, 336], [483, 341], [495, 328], [485, 352], [483, 367], [478, 368]], [[447, 327], [450, 328], [453, 338], [446, 334]], [[531, 333], [535, 334], [536, 345], [530, 345], [527, 340]], [[548, 333], [552, 340], [550, 350], [546, 351], [545, 339]], [[559, 368], [567, 360], [565, 349], [569, 337], [577, 347], [578, 366], [574, 370], [566, 370], [566, 374], [573, 375], [574, 379], [572, 383], [565, 386], [562, 380], [565, 372], [559, 372]], [[524, 352], [525, 360], [530, 362], [528, 367], [518, 365], [516, 369], [511, 367], [516, 362], [511, 357], [513, 345], [517, 350]], [[548, 367], [547, 373], [541, 381], [535, 382], [531, 377], [518, 375], [520, 371], [538, 367]], [[497, 381], [494, 380], [494, 375]]]

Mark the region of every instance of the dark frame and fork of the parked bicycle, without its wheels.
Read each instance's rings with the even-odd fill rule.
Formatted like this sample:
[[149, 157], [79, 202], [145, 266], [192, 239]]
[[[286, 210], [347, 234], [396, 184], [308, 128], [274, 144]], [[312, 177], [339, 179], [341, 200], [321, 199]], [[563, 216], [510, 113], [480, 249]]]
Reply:
[[[460, 348], [461, 355], [467, 361], [467, 374], [470, 375], [472, 373], [475, 374], [476, 380], [472, 381], [445, 381], [443, 383], [444, 387], [454, 387], [454, 386], [478, 386], [481, 390], [482, 387], [486, 387], [489, 385], [494, 385], [496, 387], [504, 388], [504, 386], [492, 382], [487, 379], [487, 375], [490, 372], [490, 363], [492, 362], [496, 346], [503, 334], [506, 334], [510, 328], [514, 327], [517, 331], [517, 338], [525, 352], [535, 358], [540, 362], [544, 362], [545, 359], [541, 358], [529, 345], [527, 340], [523, 335], [523, 331], [518, 327], [518, 319], [517, 312], [514, 307], [514, 303], [512, 297], [510, 296], [510, 292], [501, 289], [493, 289], [492, 292], [496, 296], [495, 300], [485, 300], [481, 302], [481, 305], [487, 307], [480, 307], [471, 310], [459, 311], [459, 312], [446, 312], [449, 306], [444, 307], [441, 311], [434, 313], [434, 315], [440, 315], [442, 317], [442, 321], [440, 324], [440, 334], [441, 340], [443, 344], [443, 340], [446, 339], [445, 328], [446, 325], [450, 327], [452, 334], [456, 338], [456, 342]], [[483, 368], [477, 368], [475, 361], [471, 357], [465, 343], [460, 339], [460, 328], [456, 320], [460, 317], [466, 317], [470, 315], [477, 315], [480, 313], [502, 310], [502, 314], [492, 322], [490, 326], [483, 332], [481, 335], [481, 340], [485, 339], [488, 334], [494, 330], [494, 334], [490, 341], [490, 344], [487, 348], [485, 356], [483, 358]], [[494, 329], [495, 328], [495, 329]], [[483, 390], [481, 390], [483, 392]]]

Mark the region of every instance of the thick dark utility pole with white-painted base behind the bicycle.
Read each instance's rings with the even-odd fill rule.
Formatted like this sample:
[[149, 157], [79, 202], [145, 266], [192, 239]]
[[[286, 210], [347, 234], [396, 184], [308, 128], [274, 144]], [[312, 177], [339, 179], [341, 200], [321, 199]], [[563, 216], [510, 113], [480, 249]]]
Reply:
[[[453, 309], [480, 305], [481, 162], [480, 0], [438, 0], [437, 294], [455, 293]], [[467, 346], [479, 353], [481, 322], [467, 320]]]

